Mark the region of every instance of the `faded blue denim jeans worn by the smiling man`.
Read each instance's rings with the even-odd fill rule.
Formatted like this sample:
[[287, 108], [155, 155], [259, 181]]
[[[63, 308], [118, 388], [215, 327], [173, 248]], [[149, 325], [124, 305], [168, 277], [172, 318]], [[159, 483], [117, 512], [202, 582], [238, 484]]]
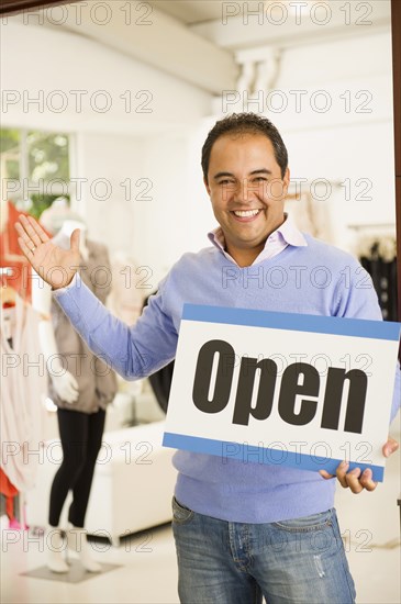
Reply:
[[178, 592], [183, 604], [352, 604], [335, 510], [292, 521], [242, 524], [172, 500]]

